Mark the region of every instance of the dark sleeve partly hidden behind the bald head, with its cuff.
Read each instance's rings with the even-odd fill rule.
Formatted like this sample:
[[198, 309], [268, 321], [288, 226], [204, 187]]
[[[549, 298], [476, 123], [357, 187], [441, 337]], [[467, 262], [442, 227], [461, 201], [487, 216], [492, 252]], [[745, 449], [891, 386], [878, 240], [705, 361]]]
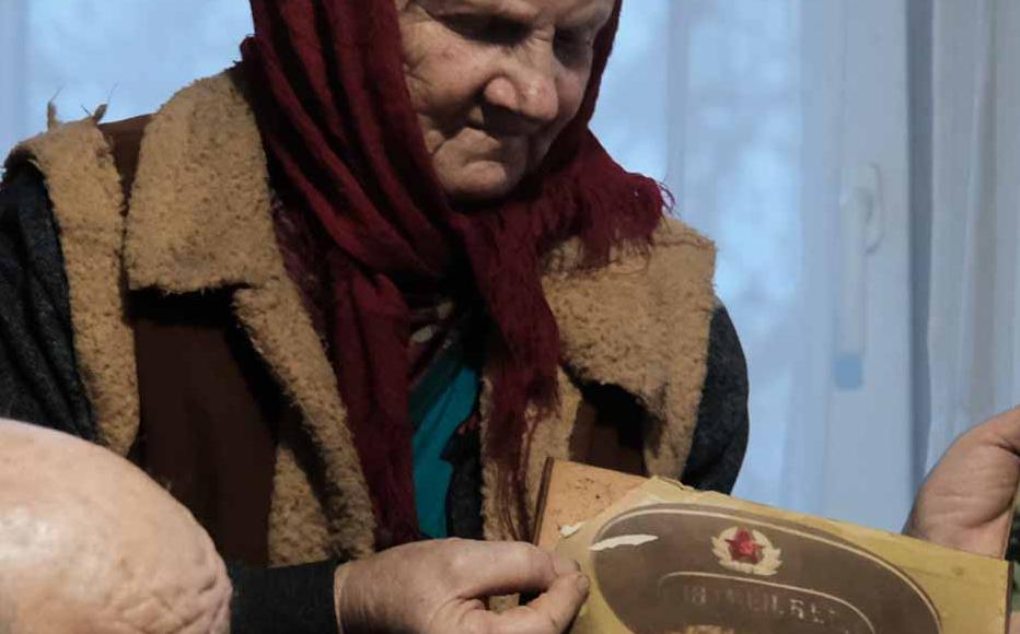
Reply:
[[[74, 359], [69, 296], [43, 175], [19, 166], [0, 186], [0, 418], [95, 441]], [[336, 565], [228, 564], [234, 586], [231, 632], [334, 634]]]

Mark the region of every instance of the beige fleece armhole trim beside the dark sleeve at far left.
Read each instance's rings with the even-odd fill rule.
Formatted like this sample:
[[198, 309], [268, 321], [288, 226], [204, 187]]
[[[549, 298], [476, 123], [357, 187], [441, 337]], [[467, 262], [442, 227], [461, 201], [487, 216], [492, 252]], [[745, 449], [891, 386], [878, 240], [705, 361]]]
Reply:
[[138, 434], [135, 336], [125, 317], [121, 275], [124, 193], [109, 145], [86, 118], [56, 125], [8, 158], [46, 179], [70, 289], [74, 353], [100, 441], [127, 455]]

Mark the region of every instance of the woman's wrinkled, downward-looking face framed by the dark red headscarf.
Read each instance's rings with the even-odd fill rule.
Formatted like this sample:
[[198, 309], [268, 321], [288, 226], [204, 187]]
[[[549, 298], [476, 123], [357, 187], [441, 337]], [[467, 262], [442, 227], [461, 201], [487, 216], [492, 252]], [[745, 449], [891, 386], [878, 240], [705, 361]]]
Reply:
[[573, 118], [614, 0], [395, 0], [407, 87], [443, 189], [509, 193]]

